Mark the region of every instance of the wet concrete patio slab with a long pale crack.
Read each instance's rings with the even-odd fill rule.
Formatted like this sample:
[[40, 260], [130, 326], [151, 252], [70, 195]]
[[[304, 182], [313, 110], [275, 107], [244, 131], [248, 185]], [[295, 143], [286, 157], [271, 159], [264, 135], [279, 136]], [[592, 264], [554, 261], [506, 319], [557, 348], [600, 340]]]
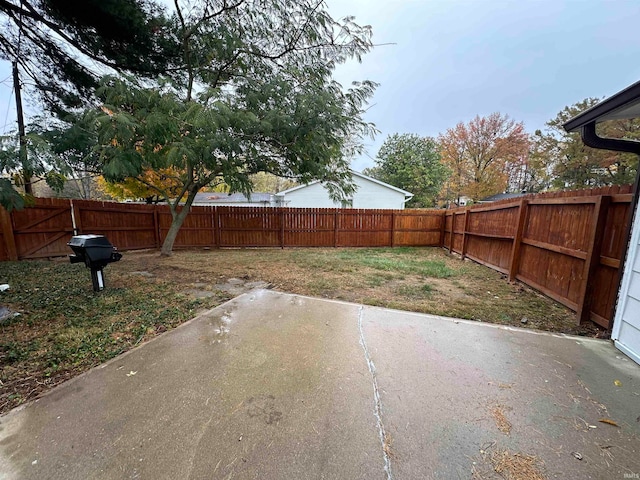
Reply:
[[606, 340], [256, 290], [0, 417], [2, 479], [485, 479], [507, 457], [640, 478], [640, 366]]

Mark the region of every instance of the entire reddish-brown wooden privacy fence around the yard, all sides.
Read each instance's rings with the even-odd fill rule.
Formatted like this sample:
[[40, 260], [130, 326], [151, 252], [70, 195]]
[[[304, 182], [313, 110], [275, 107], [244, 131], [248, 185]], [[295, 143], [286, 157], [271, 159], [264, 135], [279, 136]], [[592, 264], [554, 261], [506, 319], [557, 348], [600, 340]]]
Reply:
[[[611, 326], [632, 187], [530, 195], [455, 210], [191, 207], [176, 248], [441, 246]], [[120, 250], [159, 248], [166, 205], [37, 199], [0, 208], [0, 260], [70, 253], [72, 235]]]

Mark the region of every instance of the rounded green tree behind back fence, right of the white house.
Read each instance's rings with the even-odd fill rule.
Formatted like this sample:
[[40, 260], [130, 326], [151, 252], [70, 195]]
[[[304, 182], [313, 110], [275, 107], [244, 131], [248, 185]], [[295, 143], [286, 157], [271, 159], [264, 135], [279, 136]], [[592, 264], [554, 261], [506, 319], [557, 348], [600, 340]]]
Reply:
[[411, 133], [387, 137], [375, 162], [375, 167], [365, 169], [365, 175], [413, 193], [407, 203], [413, 208], [433, 207], [449, 175], [440, 161], [437, 142]]

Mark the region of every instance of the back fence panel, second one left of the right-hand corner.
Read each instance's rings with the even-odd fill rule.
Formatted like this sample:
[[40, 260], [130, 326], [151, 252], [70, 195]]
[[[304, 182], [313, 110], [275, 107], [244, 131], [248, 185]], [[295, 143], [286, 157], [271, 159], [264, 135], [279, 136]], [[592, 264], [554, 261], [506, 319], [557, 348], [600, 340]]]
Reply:
[[344, 209], [338, 215], [338, 247], [391, 246], [391, 210]]

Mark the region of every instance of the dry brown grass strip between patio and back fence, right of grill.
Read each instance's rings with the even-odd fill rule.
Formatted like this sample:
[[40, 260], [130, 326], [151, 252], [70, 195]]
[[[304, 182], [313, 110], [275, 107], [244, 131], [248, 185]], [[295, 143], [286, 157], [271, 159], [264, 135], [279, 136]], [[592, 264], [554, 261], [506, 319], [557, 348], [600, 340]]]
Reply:
[[[439, 248], [305, 248], [126, 252], [110, 266], [123, 274], [212, 287], [229, 278], [265, 281], [275, 290], [398, 310], [577, 335], [601, 335], [577, 326], [566, 307], [494, 270], [461, 261]], [[523, 318], [526, 323], [522, 323]]]

